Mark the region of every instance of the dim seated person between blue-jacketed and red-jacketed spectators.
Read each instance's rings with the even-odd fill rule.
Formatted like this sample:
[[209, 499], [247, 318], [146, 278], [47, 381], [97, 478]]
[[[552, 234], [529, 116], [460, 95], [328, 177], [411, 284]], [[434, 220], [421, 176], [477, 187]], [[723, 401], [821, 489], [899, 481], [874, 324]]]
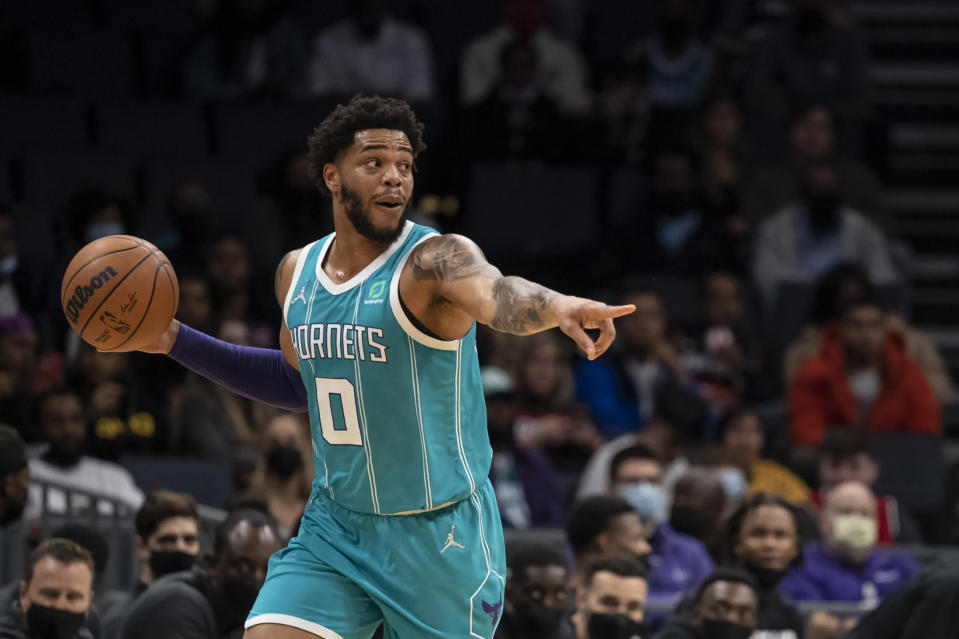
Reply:
[[746, 299], [739, 278], [711, 271], [702, 278], [701, 322], [687, 332], [683, 368], [713, 412], [723, 412], [754, 397], [761, 352], [746, 317]]

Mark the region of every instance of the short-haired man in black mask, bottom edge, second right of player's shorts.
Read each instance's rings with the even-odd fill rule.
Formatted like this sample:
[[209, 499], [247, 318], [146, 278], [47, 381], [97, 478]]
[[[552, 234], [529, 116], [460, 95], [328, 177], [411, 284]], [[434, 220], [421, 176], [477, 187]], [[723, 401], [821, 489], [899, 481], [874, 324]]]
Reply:
[[646, 567], [629, 557], [591, 562], [576, 592], [576, 639], [637, 639], [644, 632]]

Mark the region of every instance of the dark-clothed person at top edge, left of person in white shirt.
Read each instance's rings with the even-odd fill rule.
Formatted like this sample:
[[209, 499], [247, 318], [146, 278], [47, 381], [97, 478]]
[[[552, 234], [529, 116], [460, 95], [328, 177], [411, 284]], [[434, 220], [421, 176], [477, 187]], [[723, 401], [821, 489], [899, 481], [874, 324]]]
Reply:
[[279, 0], [218, 2], [183, 67], [187, 93], [203, 100], [303, 94], [307, 49]]

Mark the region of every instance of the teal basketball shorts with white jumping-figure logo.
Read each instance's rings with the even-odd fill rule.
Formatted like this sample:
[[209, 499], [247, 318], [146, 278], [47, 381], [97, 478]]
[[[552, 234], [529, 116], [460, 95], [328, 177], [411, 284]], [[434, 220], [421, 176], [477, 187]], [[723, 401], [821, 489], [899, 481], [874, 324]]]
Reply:
[[491, 639], [503, 610], [503, 528], [489, 480], [468, 499], [371, 515], [314, 488], [299, 534], [270, 558], [246, 621], [327, 639]]

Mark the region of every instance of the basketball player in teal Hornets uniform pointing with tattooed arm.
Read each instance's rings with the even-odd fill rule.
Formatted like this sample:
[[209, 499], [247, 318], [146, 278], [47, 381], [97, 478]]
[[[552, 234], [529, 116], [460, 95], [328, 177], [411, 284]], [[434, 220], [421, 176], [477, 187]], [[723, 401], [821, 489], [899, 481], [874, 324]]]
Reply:
[[[313, 492], [246, 639], [367, 639], [381, 623], [388, 639], [492, 637], [506, 562], [475, 322], [558, 326], [593, 359], [633, 310], [504, 277], [465, 237], [406, 221], [422, 133], [405, 102], [380, 97], [354, 98], [313, 132], [336, 230], [277, 269], [282, 354], [176, 321], [144, 349], [310, 413]], [[593, 341], [584, 329], [596, 328]]]

